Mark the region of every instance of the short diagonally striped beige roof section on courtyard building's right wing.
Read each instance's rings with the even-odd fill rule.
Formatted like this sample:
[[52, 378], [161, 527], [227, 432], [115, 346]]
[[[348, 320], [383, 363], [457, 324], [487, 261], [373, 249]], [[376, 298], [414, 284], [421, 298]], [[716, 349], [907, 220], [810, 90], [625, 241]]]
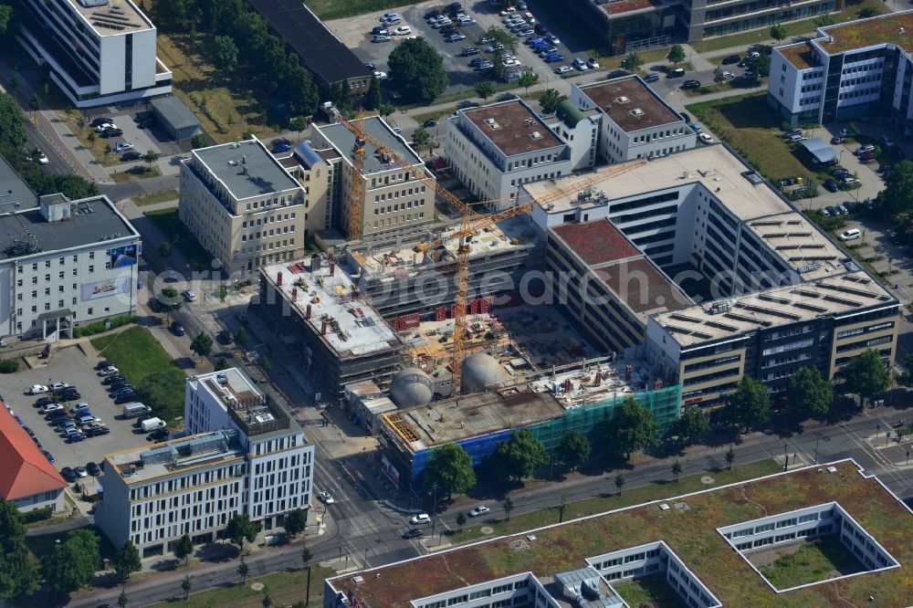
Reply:
[[769, 215], [745, 225], [802, 275], [805, 282], [833, 277], [846, 270], [846, 254], [798, 212]]

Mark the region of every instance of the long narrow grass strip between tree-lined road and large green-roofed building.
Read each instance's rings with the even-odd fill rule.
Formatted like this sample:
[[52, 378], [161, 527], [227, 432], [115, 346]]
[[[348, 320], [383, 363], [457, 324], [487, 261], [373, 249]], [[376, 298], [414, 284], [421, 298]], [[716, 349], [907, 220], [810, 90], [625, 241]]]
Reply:
[[[781, 470], [781, 466], [774, 460], [760, 460], [758, 462], [748, 463], [740, 466], [733, 466], [732, 470], [720, 470], [713, 473], [698, 473], [687, 477], [680, 477], [678, 483], [670, 479], [666, 483], [650, 484], [643, 487], [633, 487], [625, 490], [621, 496], [618, 496], [612, 478], [605, 480], [606, 494], [600, 498], [590, 498], [579, 502], [572, 502], [564, 508], [564, 520], [576, 519], [603, 513], [614, 508], [629, 507], [650, 500], [660, 498], [669, 498], [695, 492], [709, 487], [719, 487], [745, 479], [753, 479], [764, 475], [771, 475]], [[700, 477], [709, 475], [713, 477], [712, 484], [704, 484]], [[610, 476], [613, 477], [614, 476]], [[514, 534], [527, 529], [540, 528], [554, 523], [558, 523], [558, 508], [543, 508], [539, 511], [515, 515], [509, 521], [500, 519], [498, 521], [483, 521], [477, 525], [465, 527], [462, 532], [456, 532], [451, 536], [451, 542], [464, 542], [467, 540], [478, 540], [480, 538], [491, 538], [503, 534]], [[494, 529], [491, 534], [482, 534], [479, 530], [483, 526]]]

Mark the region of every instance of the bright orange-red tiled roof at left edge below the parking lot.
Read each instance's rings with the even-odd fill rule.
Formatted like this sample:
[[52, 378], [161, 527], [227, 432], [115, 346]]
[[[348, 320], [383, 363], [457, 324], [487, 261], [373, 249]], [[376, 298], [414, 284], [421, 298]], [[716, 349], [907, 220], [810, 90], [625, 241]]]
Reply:
[[67, 487], [32, 438], [0, 407], [0, 497], [16, 500]]

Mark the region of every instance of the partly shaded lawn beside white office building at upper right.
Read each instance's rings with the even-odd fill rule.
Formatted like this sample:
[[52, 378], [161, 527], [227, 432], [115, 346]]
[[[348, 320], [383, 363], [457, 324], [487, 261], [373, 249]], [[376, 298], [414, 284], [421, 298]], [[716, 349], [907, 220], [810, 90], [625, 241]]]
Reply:
[[768, 107], [766, 91], [695, 103], [686, 110], [772, 183], [783, 177], [810, 177], [819, 173], [818, 167], [801, 162], [790, 144], [782, 139], [782, 121]]

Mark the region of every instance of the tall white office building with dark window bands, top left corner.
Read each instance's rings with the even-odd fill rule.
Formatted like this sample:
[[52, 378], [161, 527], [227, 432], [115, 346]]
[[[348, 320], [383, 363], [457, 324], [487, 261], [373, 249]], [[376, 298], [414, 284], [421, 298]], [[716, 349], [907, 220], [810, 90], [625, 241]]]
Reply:
[[131, 0], [18, 0], [17, 40], [76, 108], [170, 93], [156, 29]]

